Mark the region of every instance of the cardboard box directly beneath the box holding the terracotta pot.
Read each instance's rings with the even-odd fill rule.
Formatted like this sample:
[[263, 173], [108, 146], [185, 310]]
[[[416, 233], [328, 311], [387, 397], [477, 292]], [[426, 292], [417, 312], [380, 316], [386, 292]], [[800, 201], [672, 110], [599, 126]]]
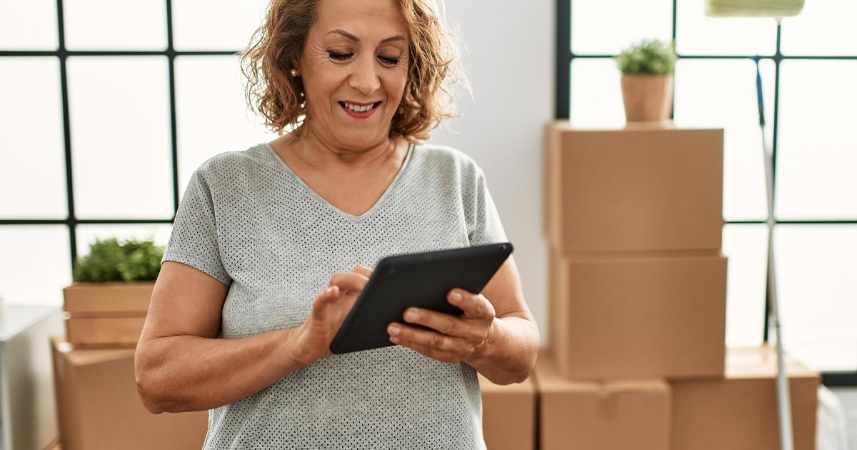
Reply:
[[561, 375], [722, 378], [725, 256], [550, 255], [548, 345]]

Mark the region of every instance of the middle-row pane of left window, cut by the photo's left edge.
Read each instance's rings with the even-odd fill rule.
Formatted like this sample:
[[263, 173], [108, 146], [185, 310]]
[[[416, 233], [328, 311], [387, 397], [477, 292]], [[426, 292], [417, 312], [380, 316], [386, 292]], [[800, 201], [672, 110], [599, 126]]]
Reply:
[[65, 219], [59, 60], [0, 58], [0, 99], [0, 218]]

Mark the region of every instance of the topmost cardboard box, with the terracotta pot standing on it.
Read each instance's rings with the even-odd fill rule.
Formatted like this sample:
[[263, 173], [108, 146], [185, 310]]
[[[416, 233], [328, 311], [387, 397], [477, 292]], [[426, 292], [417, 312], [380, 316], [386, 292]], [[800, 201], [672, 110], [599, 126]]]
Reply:
[[544, 224], [562, 254], [720, 249], [723, 130], [548, 124]]

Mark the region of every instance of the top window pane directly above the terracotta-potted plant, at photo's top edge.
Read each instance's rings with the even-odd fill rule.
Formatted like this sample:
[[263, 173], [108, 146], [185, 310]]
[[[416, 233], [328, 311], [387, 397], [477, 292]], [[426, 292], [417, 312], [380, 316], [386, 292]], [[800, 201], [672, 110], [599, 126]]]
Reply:
[[672, 35], [671, 0], [572, 0], [574, 53], [614, 55], [639, 39], [669, 42]]

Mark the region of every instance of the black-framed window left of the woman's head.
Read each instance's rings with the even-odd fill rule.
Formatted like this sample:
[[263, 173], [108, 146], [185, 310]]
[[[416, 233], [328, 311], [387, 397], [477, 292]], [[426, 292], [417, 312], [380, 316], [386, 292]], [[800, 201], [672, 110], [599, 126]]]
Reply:
[[61, 304], [97, 237], [165, 245], [196, 167], [275, 137], [237, 57], [266, 7], [0, 3], [0, 297]]

